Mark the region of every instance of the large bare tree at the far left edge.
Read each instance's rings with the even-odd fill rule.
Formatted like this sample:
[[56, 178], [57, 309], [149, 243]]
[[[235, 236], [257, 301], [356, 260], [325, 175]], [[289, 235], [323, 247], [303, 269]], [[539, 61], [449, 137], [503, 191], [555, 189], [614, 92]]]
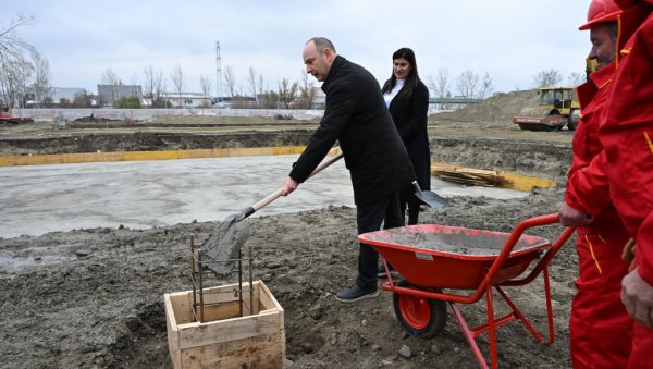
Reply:
[[23, 41], [17, 33], [17, 28], [33, 20], [32, 16], [19, 16], [7, 28], [0, 28], [0, 99], [9, 107], [23, 103], [27, 81], [34, 72], [29, 58], [36, 49]]

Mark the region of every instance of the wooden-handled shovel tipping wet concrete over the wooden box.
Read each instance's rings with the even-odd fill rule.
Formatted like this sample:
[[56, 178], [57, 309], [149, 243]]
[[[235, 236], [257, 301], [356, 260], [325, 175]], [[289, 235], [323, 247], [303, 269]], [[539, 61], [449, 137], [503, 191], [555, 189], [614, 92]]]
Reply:
[[[332, 158], [324, 160], [320, 163], [308, 176], [309, 179], [324, 168], [333, 164], [343, 157], [343, 153], [338, 153]], [[247, 217], [254, 214], [258, 210], [268, 206], [283, 194], [283, 187], [279, 188], [274, 193], [268, 195], [262, 200], [255, 205], [244, 209], [237, 214], [231, 214], [226, 217], [222, 223], [209, 235], [209, 238], [201, 245], [201, 250], [209, 256], [213, 262], [209, 266], [217, 275], [226, 276], [231, 273], [232, 265], [227, 261], [233, 260], [237, 257], [237, 253], [247, 239], [249, 229], [247, 226], [239, 225], [238, 223]]]

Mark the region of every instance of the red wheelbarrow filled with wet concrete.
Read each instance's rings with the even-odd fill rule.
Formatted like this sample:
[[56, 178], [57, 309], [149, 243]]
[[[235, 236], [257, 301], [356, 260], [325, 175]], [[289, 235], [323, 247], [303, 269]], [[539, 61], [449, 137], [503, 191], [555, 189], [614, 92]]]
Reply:
[[[496, 368], [496, 329], [508, 322], [521, 321], [542, 344], [555, 341], [549, 262], [574, 229], [565, 229], [554, 244], [523, 235], [527, 229], [555, 223], [558, 223], [557, 214], [535, 217], [520, 222], [512, 233], [419, 224], [365, 233], [358, 241], [372, 246], [383, 257], [387, 282], [382, 288], [394, 294], [393, 306], [402, 325], [415, 335], [433, 337], [444, 330], [448, 305], [482, 368], [488, 368], [488, 362], [476, 339], [488, 332], [492, 368]], [[389, 262], [402, 275], [401, 280], [392, 278]], [[540, 274], [546, 296], [547, 341], [503, 290], [528, 284]], [[509, 313], [495, 317], [493, 290], [506, 302]], [[473, 304], [483, 296], [488, 322], [469, 327], [457, 304]]]

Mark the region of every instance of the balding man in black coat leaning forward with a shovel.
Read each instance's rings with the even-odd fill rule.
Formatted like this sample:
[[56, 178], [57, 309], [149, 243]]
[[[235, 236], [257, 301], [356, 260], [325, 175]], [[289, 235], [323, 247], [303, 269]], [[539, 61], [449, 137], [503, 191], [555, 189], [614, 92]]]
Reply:
[[[323, 37], [308, 40], [303, 57], [306, 72], [323, 82], [326, 108], [320, 126], [293, 164], [283, 195], [308, 179], [337, 139], [352, 176], [358, 233], [380, 230], [384, 219], [385, 229], [403, 225], [398, 190], [415, 180], [415, 171], [379, 83], [364, 67], [337, 56]], [[356, 283], [336, 298], [349, 303], [378, 296], [378, 262], [379, 254], [360, 244]]]

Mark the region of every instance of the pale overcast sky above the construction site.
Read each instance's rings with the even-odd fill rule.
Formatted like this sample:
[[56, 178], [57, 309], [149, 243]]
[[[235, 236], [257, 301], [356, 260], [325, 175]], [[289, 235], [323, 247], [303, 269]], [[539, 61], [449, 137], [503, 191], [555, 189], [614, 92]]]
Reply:
[[[50, 62], [52, 85], [97, 91], [111, 69], [130, 84], [151, 65], [167, 77], [180, 64], [188, 90], [199, 78], [217, 85], [215, 42], [222, 75], [231, 67], [237, 90], [249, 94], [249, 69], [268, 89], [301, 77], [301, 49], [312, 36], [330, 38], [338, 54], [366, 66], [380, 83], [392, 52], [410, 47], [422, 79], [446, 69], [489, 73], [495, 91], [528, 89], [533, 76], [557, 70], [565, 81], [584, 71], [588, 32], [578, 27], [589, 0], [0, 0], [0, 29], [19, 15], [23, 40]], [[311, 77], [312, 78], [312, 77]], [[224, 82], [222, 82], [224, 91]], [[452, 94], [457, 95], [453, 87]]]

